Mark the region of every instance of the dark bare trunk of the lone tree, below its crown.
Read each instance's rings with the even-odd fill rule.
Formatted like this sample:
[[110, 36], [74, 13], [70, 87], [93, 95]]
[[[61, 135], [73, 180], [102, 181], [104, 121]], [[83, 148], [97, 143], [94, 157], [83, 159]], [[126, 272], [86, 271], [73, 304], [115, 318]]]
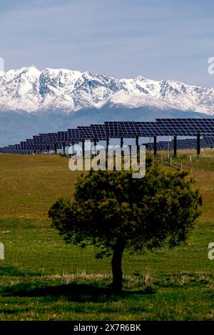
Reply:
[[117, 243], [113, 250], [113, 257], [111, 261], [113, 282], [112, 291], [113, 294], [121, 294], [123, 287], [123, 272], [122, 272], [122, 258], [123, 258], [124, 247]]

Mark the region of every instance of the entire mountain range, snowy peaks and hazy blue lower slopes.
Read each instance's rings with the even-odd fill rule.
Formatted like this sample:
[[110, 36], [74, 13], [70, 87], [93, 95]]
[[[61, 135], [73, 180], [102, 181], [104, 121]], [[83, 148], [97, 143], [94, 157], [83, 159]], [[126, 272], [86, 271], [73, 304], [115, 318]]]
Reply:
[[0, 145], [105, 120], [212, 115], [214, 88], [34, 66], [0, 72]]

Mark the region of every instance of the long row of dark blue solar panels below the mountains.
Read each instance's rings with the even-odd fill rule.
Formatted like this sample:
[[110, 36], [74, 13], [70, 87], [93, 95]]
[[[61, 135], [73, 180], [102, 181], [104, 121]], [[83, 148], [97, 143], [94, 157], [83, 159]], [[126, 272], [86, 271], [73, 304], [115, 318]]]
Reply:
[[[0, 148], [0, 153], [40, 153], [61, 150], [66, 145], [84, 140], [107, 140], [110, 138], [136, 138], [151, 136], [196, 136], [203, 135], [201, 148], [213, 148], [214, 118], [159, 118], [154, 122], [108, 121], [100, 125], [78, 126], [57, 133], [41, 133], [16, 145]], [[157, 143], [158, 150], [173, 148], [173, 141]], [[153, 143], [147, 143], [153, 150]], [[195, 139], [177, 140], [177, 148], [195, 148]]]

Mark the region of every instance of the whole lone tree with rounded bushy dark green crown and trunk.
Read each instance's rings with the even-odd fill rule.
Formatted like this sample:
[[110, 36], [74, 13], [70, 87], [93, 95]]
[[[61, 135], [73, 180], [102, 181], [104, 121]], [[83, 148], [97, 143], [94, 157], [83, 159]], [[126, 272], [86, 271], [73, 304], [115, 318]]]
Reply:
[[124, 249], [143, 252], [184, 241], [200, 215], [201, 196], [187, 172], [164, 172], [151, 159], [146, 176], [91, 171], [76, 183], [73, 202], [60, 198], [49, 210], [68, 243], [94, 244], [96, 257], [112, 255], [113, 292], [122, 291]]

